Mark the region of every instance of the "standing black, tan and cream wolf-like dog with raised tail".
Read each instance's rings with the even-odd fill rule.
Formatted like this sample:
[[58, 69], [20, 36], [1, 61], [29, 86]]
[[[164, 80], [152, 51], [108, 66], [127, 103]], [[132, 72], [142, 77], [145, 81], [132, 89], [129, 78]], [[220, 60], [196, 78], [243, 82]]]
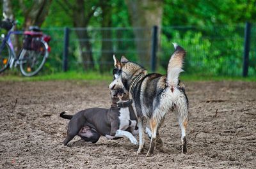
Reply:
[[175, 110], [179, 116], [181, 128], [182, 153], [187, 152], [186, 128], [188, 125], [188, 98], [184, 87], [180, 85], [179, 74], [183, 71], [186, 51], [176, 43], [173, 43], [175, 52], [168, 63], [167, 75], [157, 73], [147, 74], [147, 70], [128, 61], [122, 56], [121, 61], [113, 56], [115, 69], [113, 70], [113, 82], [109, 89], [125, 88], [131, 92], [134, 100], [133, 108], [138, 117], [140, 146], [137, 154], [143, 152], [145, 140], [145, 124], [143, 120], [149, 119], [152, 131], [150, 148], [147, 156], [154, 152], [157, 140], [157, 129], [167, 112]]

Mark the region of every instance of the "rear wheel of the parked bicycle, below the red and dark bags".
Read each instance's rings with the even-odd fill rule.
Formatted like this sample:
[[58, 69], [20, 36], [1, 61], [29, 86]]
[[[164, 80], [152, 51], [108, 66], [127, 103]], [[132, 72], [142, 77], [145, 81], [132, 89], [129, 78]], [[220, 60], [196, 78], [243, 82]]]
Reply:
[[43, 68], [48, 55], [48, 45], [43, 40], [40, 40], [34, 49], [26, 50], [23, 48], [19, 57], [22, 75], [26, 77], [36, 75]]

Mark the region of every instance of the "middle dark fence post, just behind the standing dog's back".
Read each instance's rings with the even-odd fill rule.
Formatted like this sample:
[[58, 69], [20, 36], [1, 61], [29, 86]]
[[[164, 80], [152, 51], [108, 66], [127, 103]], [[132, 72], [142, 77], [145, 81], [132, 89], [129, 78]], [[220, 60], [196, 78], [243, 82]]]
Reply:
[[157, 26], [152, 27], [151, 71], [156, 71]]

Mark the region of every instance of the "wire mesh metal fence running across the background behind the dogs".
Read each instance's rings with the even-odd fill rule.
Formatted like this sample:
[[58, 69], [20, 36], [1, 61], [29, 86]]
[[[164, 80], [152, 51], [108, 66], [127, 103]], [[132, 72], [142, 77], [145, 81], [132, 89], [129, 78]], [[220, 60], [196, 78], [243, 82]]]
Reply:
[[[161, 27], [158, 31], [154, 27], [48, 28], [44, 29], [44, 33], [52, 36], [52, 51], [44, 70], [79, 71], [84, 70], [86, 66], [100, 70], [102, 66], [113, 65], [112, 58], [115, 54], [117, 57], [125, 55], [150, 70], [154, 70], [156, 66], [157, 71], [164, 72], [173, 52], [172, 42], [177, 42], [188, 52], [186, 73], [241, 76], [244, 27], [244, 24], [212, 27], [172, 26]], [[148, 36], [141, 38], [145, 37], [145, 34]], [[256, 76], [255, 24], [252, 25], [249, 35], [248, 75]]]

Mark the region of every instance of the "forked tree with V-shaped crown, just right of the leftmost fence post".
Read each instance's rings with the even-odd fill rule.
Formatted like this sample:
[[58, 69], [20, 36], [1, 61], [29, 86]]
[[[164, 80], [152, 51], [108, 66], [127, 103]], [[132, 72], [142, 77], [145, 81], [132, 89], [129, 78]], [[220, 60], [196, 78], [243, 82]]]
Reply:
[[[86, 1], [86, 0], [58, 0], [65, 15], [72, 18], [74, 27], [88, 27], [90, 19], [99, 8], [99, 1]], [[90, 36], [87, 29], [83, 31], [76, 29], [76, 34], [79, 37], [79, 45], [81, 48], [81, 56], [85, 70], [93, 68], [93, 55], [92, 44], [90, 43]]]

